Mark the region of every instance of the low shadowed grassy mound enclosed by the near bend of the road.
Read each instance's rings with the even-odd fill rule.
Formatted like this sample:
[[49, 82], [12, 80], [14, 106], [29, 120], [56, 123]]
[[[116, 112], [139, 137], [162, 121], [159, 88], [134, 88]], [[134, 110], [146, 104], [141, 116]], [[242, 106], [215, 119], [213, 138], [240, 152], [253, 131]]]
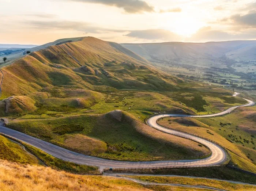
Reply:
[[[117, 160], [181, 158], [209, 152], [196, 142], [148, 129], [122, 111], [103, 115], [20, 120], [8, 123], [8, 127], [76, 152]], [[76, 138], [79, 142], [73, 142]], [[91, 146], [86, 146], [87, 144]]]

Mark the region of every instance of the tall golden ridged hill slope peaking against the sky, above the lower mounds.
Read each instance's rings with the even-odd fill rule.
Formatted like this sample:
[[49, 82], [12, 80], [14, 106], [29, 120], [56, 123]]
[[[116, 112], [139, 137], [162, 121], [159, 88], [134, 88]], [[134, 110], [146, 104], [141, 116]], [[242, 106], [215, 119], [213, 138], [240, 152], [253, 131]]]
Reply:
[[[147, 65], [142, 57], [117, 43], [87, 37], [32, 52], [4, 67], [2, 98], [53, 86], [158, 89], [176, 84], [177, 79], [163, 76]], [[156, 79], [155, 84], [151, 83], [151, 78]]]

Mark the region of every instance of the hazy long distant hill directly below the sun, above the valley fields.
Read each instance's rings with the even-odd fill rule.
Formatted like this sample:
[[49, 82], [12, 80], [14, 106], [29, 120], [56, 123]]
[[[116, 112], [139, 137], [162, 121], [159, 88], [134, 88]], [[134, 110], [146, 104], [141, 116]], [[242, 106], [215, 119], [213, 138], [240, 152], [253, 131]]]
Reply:
[[256, 60], [256, 41], [124, 43], [122, 45], [147, 60], [156, 62], [179, 62], [208, 67], [209, 64], [216, 64], [219, 58], [223, 57], [237, 61]]

